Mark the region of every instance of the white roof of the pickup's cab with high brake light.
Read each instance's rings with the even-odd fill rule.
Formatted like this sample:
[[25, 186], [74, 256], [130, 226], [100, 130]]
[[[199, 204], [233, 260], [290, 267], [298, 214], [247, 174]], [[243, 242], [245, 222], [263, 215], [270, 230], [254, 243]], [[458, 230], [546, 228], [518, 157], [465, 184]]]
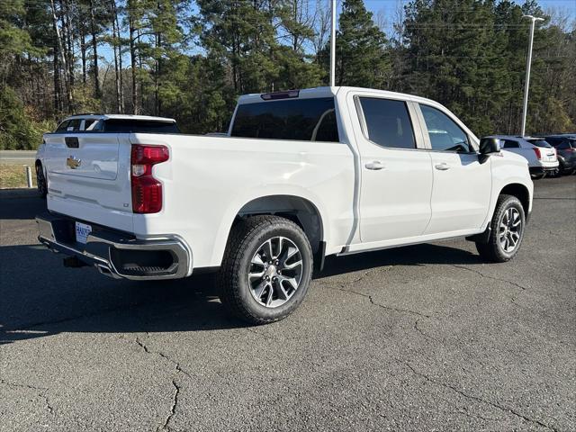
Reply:
[[257, 103], [263, 100], [282, 100], [282, 99], [308, 99], [312, 97], [333, 97], [340, 92], [357, 91], [357, 92], [370, 92], [382, 96], [392, 97], [394, 99], [400, 98], [414, 102], [427, 102], [431, 104], [439, 104], [436, 101], [427, 99], [425, 97], [415, 96], [414, 94], [405, 94], [397, 92], [389, 92], [387, 90], [375, 90], [374, 88], [364, 87], [349, 87], [349, 86], [323, 86], [313, 88], [302, 88], [300, 90], [288, 90], [285, 92], [271, 92], [271, 93], [253, 93], [243, 94], [238, 98], [238, 104], [244, 103]]

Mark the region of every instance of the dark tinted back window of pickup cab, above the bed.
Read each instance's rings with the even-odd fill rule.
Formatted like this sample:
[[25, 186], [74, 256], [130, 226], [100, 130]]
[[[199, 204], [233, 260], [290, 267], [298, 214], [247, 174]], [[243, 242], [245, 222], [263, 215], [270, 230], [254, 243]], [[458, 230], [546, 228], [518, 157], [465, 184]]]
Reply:
[[231, 137], [338, 142], [333, 97], [272, 100], [238, 105]]

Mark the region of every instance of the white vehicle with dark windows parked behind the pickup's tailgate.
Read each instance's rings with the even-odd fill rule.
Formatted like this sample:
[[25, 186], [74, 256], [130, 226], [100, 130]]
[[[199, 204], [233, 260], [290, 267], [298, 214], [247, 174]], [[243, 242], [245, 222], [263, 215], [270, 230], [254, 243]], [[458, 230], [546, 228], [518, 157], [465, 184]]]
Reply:
[[[77, 133], [180, 133], [176, 121], [166, 117], [130, 114], [76, 114], [71, 115], [58, 124], [53, 133], [74, 134], [65, 137], [67, 148], [78, 148]], [[94, 138], [95, 135], [92, 135]], [[95, 142], [95, 141], [94, 141]], [[36, 151], [36, 185], [41, 197], [48, 193], [48, 176], [44, 154], [46, 141], [42, 140]]]

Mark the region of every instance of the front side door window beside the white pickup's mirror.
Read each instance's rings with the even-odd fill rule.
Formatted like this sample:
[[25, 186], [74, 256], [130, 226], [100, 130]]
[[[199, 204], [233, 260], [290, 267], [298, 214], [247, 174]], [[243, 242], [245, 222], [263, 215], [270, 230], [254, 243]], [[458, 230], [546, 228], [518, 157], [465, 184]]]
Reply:
[[423, 104], [420, 104], [420, 109], [424, 121], [426, 121], [430, 145], [433, 150], [458, 153], [473, 151], [468, 141], [468, 135], [444, 112]]

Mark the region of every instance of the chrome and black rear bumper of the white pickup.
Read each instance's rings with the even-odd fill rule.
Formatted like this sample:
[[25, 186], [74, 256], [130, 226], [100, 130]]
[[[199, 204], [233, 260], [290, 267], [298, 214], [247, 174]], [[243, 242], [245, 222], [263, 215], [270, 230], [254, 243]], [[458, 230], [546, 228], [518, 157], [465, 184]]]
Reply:
[[38, 239], [49, 249], [100, 273], [131, 280], [178, 279], [192, 273], [192, 252], [179, 238], [139, 239], [122, 231], [93, 226], [86, 243], [76, 242], [76, 220], [54, 214], [36, 217]]

